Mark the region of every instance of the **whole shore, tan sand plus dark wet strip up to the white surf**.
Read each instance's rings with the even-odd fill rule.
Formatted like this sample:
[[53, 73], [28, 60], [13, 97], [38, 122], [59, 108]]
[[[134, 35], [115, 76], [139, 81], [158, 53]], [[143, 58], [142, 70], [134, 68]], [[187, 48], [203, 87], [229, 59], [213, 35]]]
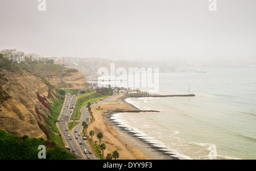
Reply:
[[88, 135], [90, 130], [94, 130], [94, 140], [97, 139], [98, 132], [104, 135], [101, 143], [106, 144], [104, 151], [104, 158], [108, 153], [117, 150], [119, 152], [119, 159], [121, 160], [176, 160], [179, 159], [167, 149], [161, 149], [154, 143], [143, 140], [135, 135], [131, 130], [125, 127], [118, 126], [117, 122], [111, 119], [113, 114], [118, 112], [112, 111], [140, 111], [134, 105], [125, 102], [123, 96], [113, 97], [108, 101], [101, 102], [100, 106], [104, 110], [96, 110], [97, 106], [92, 107], [94, 121], [88, 127]]

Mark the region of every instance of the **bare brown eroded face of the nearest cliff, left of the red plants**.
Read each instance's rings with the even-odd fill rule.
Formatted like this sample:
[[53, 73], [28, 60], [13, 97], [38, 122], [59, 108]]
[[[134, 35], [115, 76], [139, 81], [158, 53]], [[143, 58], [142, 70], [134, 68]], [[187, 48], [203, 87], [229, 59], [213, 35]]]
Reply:
[[[43, 115], [50, 114], [38, 95], [51, 102], [49, 87], [43, 80], [23, 69], [0, 69], [0, 129], [9, 133], [47, 139], [39, 125], [44, 125]], [[45, 113], [46, 112], [46, 113]]]

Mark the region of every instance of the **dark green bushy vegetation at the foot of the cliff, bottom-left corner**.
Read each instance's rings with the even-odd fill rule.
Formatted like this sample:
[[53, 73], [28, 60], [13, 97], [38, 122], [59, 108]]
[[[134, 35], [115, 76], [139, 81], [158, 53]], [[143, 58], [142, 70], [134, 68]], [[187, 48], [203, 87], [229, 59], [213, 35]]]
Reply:
[[42, 160], [63, 160], [76, 159], [65, 149], [57, 147], [54, 143], [44, 139], [30, 139], [27, 135], [16, 136], [0, 130], [0, 160], [39, 160], [39, 145], [46, 146], [46, 159]]

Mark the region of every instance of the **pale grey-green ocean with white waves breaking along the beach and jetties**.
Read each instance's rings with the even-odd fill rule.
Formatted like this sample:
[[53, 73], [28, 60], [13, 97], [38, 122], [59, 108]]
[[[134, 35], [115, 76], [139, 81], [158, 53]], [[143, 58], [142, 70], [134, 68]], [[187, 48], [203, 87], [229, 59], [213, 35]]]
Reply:
[[256, 159], [256, 68], [203, 68], [159, 73], [158, 94], [125, 101], [141, 110], [117, 113], [123, 139], [151, 159]]

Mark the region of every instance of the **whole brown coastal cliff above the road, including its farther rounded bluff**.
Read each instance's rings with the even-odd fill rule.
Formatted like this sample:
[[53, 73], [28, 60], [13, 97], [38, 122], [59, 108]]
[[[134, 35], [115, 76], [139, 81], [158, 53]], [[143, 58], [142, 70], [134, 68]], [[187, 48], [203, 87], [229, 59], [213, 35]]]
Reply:
[[48, 118], [54, 118], [51, 108], [64, 100], [55, 87], [86, 89], [86, 80], [78, 70], [60, 65], [22, 68], [0, 68], [0, 130], [47, 140], [52, 131]]

